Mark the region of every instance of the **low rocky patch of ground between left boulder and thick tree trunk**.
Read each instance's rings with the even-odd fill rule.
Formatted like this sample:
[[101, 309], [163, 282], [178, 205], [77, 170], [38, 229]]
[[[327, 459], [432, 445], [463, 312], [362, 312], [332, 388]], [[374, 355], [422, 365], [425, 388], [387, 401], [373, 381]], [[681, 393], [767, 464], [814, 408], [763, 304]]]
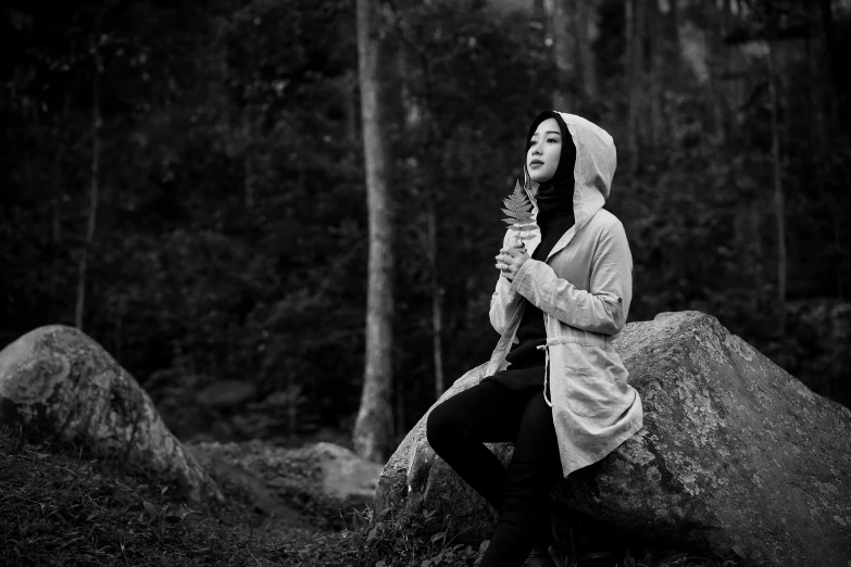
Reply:
[[260, 440], [186, 446], [223, 487], [236, 488], [266, 514], [326, 529], [345, 527], [341, 514], [372, 505], [381, 471], [381, 465], [325, 442], [299, 449]]

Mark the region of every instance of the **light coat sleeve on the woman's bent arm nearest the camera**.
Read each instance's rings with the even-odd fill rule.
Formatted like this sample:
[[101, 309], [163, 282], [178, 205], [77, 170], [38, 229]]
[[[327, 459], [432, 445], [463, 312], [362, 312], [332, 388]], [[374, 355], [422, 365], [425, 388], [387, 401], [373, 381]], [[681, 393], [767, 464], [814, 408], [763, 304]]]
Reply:
[[615, 220], [601, 230], [588, 291], [556, 276], [549, 264], [531, 259], [523, 264], [511, 287], [571, 327], [617, 335], [626, 324], [633, 299], [633, 256], [624, 226]]

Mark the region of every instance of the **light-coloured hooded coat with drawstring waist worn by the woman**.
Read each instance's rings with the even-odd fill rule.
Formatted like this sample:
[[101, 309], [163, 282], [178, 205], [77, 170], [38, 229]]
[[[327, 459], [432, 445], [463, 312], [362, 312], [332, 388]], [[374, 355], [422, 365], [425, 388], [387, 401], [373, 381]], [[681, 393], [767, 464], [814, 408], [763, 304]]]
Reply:
[[[501, 338], [485, 376], [509, 366], [523, 298], [543, 312], [552, 419], [565, 477], [600, 461], [643, 425], [638, 392], [612, 348], [633, 299], [633, 256], [621, 222], [602, 209], [612, 187], [617, 154], [612, 137], [596, 124], [559, 113], [576, 146], [573, 209], [576, 222], [546, 262], [528, 259], [514, 280], [500, 276], [490, 300], [490, 323]], [[535, 204], [536, 186], [527, 190]], [[529, 255], [540, 230], [527, 241]], [[510, 228], [503, 245], [512, 245]], [[545, 392], [546, 392], [545, 387]]]

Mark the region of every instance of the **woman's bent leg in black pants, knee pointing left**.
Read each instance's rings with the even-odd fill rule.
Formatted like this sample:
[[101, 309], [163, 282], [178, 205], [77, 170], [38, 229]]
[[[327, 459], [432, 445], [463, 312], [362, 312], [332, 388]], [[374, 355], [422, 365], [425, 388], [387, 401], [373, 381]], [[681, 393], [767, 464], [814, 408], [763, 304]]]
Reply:
[[497, 512], [508, 474], [484, 442], [514, 441], [531, 392], [485, 380], [431, 410], [428, 444]]

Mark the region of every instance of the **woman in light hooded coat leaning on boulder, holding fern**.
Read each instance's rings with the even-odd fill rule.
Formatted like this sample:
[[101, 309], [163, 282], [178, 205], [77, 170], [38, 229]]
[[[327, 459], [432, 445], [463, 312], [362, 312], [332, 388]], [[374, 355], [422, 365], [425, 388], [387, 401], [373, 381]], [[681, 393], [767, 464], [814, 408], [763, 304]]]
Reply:
[[[642, 427], [638, 393], [612, 348], [633, 295], [621, 222], [602, 206], [616, 152], [585, 118], [542, 112], [526, 136], [537, 229], [510, 228], [497, 255], [490, 322], [501, 333], [485, 378], [435, 407], [428, 442], [497, 511], [479, 567], [552, 566], [547, 500]], [[512, 441], [508, 470], [483, 444]], [[531, 553], [530, 553], [531, 552]]]

